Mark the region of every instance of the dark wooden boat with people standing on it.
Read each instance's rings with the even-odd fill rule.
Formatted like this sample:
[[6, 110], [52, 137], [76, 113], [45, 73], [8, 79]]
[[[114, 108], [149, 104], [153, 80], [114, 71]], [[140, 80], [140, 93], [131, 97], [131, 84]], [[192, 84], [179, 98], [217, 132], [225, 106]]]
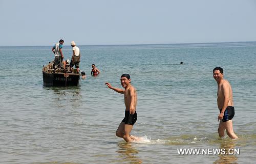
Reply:
[[47, 66], [42, 67], [42, 79], [45, 87], [67, 87], [78, 86], [80, 81], [80, 73], [76, 69], [68, 67], [68, 70], [60, 68], [53, 69], [54, 62], [49, 62]]

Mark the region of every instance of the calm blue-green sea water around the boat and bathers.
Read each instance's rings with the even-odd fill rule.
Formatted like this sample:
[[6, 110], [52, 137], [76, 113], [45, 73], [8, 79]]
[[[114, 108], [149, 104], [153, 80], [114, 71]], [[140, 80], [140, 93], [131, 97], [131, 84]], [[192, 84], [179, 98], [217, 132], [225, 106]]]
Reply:
[[[79, 46], [78, 87], [42, 86], [51, 46], [0, 47], [0, 163], [253, 163], [256, 160], [256, 42]], [[71, 46], [64, 46], [70, 59]], [[183, 62], [183, 65], [180, 65]], [[91, 65], [101, 71], [90, 76]], [[218, 137], [214, 67], [233, 89], [239, 140]], [[120, 75], [137, 89], [133, 135], [115, 136], [124, 117]], [[236, 155], [179, 155], [179, 148], [239, 149]]]

